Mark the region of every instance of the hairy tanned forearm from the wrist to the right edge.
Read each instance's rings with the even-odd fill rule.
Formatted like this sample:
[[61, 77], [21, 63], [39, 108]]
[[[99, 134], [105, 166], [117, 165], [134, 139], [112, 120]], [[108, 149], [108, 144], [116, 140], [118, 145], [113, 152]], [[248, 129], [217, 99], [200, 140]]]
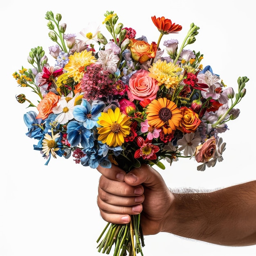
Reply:
[[256, 244], [256, 181], [174, 196], [163, 231], [220, 245]]

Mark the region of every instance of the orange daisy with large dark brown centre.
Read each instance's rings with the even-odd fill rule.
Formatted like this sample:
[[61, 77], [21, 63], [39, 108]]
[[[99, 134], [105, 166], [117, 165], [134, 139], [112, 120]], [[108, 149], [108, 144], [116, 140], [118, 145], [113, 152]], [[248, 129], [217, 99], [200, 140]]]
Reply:
[[[176, 130], [182, 119], [181, 110], [167, 98], [154, 99], [146, 109], [148, 124], [156, 129], [162, 128], [164, 134]], [[166, 126], [167, 125], [167, 126]]]

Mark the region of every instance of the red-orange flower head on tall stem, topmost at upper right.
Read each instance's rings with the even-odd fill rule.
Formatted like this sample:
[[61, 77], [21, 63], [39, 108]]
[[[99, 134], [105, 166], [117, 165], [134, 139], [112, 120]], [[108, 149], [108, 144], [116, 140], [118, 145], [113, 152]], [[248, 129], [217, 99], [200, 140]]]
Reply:
[[151, 17], [151, 19], [159, 32], [162, 34], [177, 33], [178, 31], [182, 30], [181, 25], [176, 25], [175, 23], [172, 23], [171, 20], [164, 17], [156, 18], [155, 16], [153, 16]]

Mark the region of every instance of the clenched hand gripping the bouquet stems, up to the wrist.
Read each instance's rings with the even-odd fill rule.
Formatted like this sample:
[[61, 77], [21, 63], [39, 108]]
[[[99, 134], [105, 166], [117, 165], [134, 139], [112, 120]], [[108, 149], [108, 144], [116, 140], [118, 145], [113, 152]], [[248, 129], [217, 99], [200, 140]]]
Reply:
[[104, 220], [127, 224], [130, 215], [141, 213], [144, 235], [165, 231], [174, 196], [155, 169], [142, 165], [127, 174], [115, 165], [97, 169], [102, 174], [97, 203]]

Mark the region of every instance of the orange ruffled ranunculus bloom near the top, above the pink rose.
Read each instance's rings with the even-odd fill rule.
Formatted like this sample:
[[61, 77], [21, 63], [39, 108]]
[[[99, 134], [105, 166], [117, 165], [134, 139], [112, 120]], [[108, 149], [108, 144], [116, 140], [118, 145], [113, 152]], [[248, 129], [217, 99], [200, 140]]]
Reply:
[[155, 58], [157, 52], [157, 44], [155, 42], [151, 45], [145, 41], [130, 38], [130, 51], [132, 58], [139, 63], [144, 63], [150, 58]]

